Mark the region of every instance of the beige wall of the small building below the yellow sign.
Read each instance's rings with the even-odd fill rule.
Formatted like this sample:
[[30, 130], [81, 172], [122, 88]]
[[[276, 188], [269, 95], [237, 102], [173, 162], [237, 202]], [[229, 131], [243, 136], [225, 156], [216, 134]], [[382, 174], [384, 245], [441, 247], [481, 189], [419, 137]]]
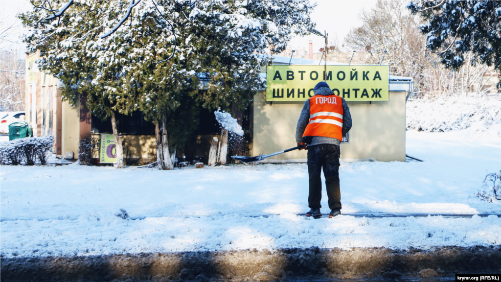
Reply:
[[[341, 159], [405, 161], [405, 92], [390, 92], [388, 102], [348, 102], [353, 119], [350, 142], [341, 145]], [[254, 99], [252, 155], [296, 147], [296, 125], [303, 103], [266, 102], [261, 91]], [[267, 162], [306, 162], [305, 151], [293, 151]]]

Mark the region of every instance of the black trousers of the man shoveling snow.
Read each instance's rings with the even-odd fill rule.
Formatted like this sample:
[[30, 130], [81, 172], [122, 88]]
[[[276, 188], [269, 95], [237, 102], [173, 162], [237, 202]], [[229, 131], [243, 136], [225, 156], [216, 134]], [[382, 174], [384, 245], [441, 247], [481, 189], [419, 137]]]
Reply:
[[324, 170], [325, 186], [329, 198], [329, 208], [341, 209], [341, 191], [339, 189], [339, 146], [319, 144], [308, 146], [308, 175], [310, 177], [310, 193], [308, 206], [312, 209], [322, 207], [322, 180], [320, 174]]

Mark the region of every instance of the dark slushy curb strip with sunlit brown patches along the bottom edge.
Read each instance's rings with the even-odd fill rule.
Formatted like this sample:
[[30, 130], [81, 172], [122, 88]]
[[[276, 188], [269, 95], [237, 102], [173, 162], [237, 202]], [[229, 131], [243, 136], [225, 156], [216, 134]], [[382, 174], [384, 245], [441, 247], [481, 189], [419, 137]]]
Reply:
[[0, 281], [272, 281], [498, 273], [501, 246], [279, 249], [0, 258]]

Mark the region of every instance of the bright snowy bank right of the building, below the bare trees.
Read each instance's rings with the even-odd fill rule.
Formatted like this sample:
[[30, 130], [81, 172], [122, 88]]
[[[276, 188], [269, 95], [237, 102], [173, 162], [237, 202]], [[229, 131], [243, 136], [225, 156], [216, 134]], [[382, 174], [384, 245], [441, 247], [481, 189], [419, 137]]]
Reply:
[[467, 95], [407, 101], [407, 128], [429, 132], [486, 129], [501, 122], [500, 95]]

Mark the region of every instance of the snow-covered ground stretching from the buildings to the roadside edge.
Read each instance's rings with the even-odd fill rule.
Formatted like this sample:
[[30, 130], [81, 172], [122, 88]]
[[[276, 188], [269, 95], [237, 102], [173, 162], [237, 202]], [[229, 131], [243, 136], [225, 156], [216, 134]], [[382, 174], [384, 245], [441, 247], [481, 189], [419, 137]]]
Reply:
[[[342, 163], [344, 213], [308, 211], [305, 164], [174, 171], [77, 164], [0, 167], [0, 256], [124, 252], [490, 245], [501, 219], [363, 218], [346, 214], [501, 214], [471, 198], [501, 170], [499, 124], [483, 132], [407, 131], [407, 154], [424, 162]], [[328, 213], [327, 196], [322, 199]], [[115, 216], [125, 209], [132, 219]]]

